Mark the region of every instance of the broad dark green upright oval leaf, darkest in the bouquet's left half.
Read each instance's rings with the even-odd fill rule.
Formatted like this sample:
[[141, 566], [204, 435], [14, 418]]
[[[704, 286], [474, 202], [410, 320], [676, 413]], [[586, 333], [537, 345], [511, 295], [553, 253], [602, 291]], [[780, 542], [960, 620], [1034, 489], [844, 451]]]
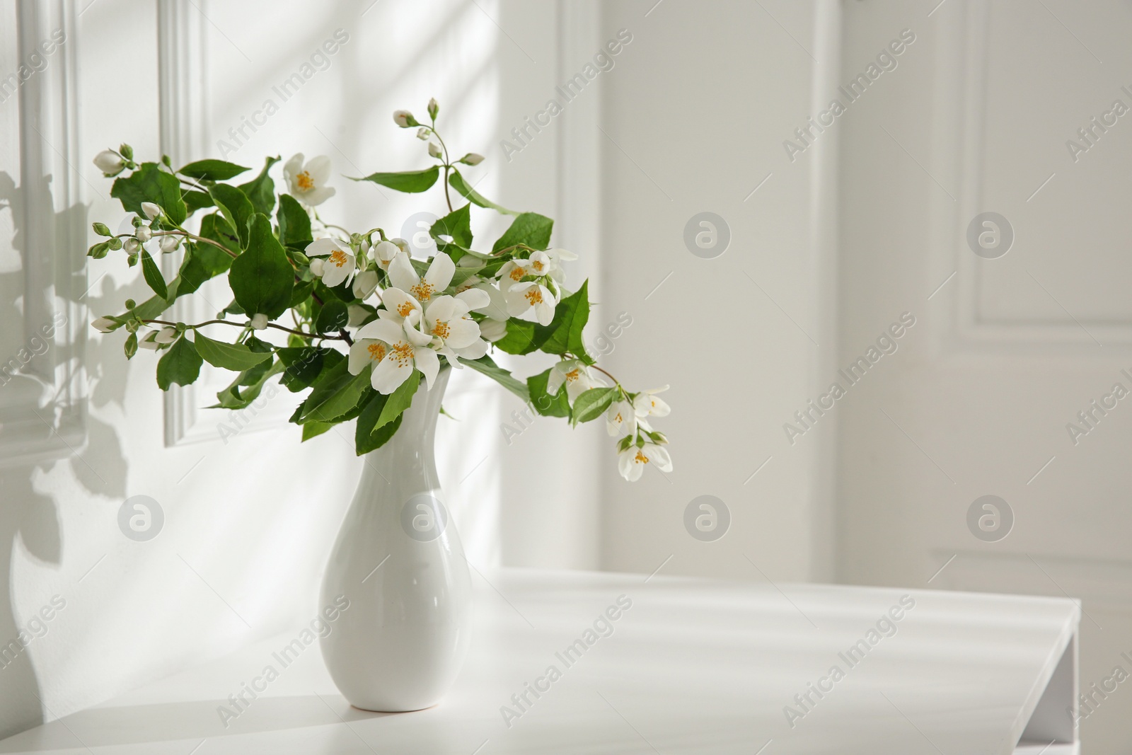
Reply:
[[248, 250], [232, 260], [229, 284], [249, 317], [263, 312], [275, 318], [291, 306], [294, 271], [266, 215], [256, 213], [248, 226]]

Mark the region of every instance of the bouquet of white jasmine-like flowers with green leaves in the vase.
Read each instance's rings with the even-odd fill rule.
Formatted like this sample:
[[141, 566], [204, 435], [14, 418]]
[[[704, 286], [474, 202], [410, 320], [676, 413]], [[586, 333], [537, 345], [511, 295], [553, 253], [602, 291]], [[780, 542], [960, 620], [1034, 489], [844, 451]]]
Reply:
[[[477, 165], [483, 157], [469, 153], [453, 161], [436, 129], [437, 112], [429, 101], [428, 126], [408, 111], [394, 113], [397, 126], [417, 129], [437, 164], [354, 179], [419, 194], [444, 172], [449, 212], [429, 231], [437, 251], [426, 260], [414, 259], [404, 239], [381, 228], [355, 233], [319, 217], [316, 207], [335, 192], [325, 156], [291, 157], [283, 165], [286, 191], [276, 195], [271, 171], [278, 157], [234, 185], [250, 169], [201, 160], [173, 170], [168, 156], [136, 163], [129, 145], [100, 153], [94, 162], [108, 178], [118, 177], [110, 194], [134, 213], [132, 231], [115, 234], [94, 223], [105, 240], [88, 255], [125, 252], [130, 267], [140, 263], [154, 295], [126, 300], [122, 314], [100, 317], [94, 327], [125, 329], [127, 359], [139, 346], [161, 352], [157, 385], [165, 391], [195, 381], [204, 362], [238, 372], [217, 394], [217, 407], [246, 407], [276, 376], [292, 392], [309, 389], [291, 417], [302, 439], [355, 419], [359, 455], [393, 437], [422, 378], [428, 389], [443, 366], [466, 366], [539, 414], [573, 424], [604, 414], [609, 434], [619, 438], [618, 467], [627, 480], [640, 479], [649, 463], [671, 470], [668, 440], [648, 419], [669, 412], [657, 396], [662, 388], [629, 392], [586, 353], [588, 282], [574, 292], [564, 288], [563, 266], [576, 256], [549, 248], [554, 221], [507, 209], [472, 189], [457, 164]], [[465, 204], [453, 208], [453, 194]], [[472, 205], [514, 216], [490, 251], [472, 249]], [[179, 273], [165, 281], [154, 257], [178, 251]], [[232, 301], [215, 319], [162, 318], [178, 297], [225, 274]], [[284, 325], [278, 319], [288, 312]], [[223, 326], [237, 328], [235, 337], [221, 337]], [[266, 329], [285, 333], [285, 345], [259, 337]], [[492, 349], [542, 351], [559, 361], [524, 381], [495, 363]]]

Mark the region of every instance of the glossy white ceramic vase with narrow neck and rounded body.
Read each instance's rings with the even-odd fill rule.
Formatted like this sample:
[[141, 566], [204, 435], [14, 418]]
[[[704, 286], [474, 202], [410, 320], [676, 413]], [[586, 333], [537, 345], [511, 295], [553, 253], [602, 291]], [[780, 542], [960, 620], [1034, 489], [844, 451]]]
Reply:
[[321, 637], [338, 690], [367, 711], [415, 711], [452, 687], [468, 653], [471, 577], [443, 505], [434, 437], [451, 368], [423, 383], [396, 435], [367, 454], [323, 577], [341, 610]]

